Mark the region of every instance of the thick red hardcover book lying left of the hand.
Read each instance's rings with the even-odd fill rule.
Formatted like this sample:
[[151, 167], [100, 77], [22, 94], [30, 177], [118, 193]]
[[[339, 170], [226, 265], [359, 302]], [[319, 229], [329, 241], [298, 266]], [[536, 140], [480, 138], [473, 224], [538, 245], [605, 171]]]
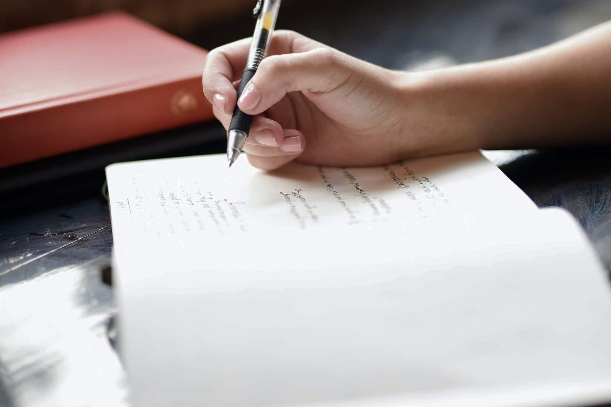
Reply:
[[0, 168], [213, 117], [207, 51], [125, 13], [0, 36]]

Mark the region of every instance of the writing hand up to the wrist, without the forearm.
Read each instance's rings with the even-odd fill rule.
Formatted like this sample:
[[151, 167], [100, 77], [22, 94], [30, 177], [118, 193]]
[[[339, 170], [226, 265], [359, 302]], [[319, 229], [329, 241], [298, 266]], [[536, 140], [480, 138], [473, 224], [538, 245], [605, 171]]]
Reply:
[[[225, 129], [250, 46], [245, 38], [207, 57], [203, 92]], [[400, 159], [414, 149], [404, 134], [404, 76], [296, 32], [274, 32], [269, 56], [238, 101], [255, 116], [244, 146], [249, 161], [273, 170], [294, 159], [320, 165]]]

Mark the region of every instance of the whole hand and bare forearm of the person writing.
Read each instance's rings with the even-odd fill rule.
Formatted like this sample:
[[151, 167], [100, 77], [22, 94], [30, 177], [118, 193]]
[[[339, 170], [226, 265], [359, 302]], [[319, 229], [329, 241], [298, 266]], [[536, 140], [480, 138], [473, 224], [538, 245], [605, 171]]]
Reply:
[[[255, 115], [244, 150], [271, 170], [293, 159], [383, 165], [478, 148], [609, 144], [611, 52], [601, 49], [610, 34], [611, 22], [518, 56], [414, 73], [277, 31], [238, 102]], [[225, 128], [250, 45], [214, 49], [203, 71]]]

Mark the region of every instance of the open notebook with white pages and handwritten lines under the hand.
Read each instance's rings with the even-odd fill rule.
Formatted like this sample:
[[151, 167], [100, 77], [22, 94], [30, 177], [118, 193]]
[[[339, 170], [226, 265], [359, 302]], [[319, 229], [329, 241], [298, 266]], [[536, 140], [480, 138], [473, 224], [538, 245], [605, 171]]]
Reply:
[[611, 400], [611, 292], [579, 225], [480, 153], [387, 167], [107, 167], [137, 406]]

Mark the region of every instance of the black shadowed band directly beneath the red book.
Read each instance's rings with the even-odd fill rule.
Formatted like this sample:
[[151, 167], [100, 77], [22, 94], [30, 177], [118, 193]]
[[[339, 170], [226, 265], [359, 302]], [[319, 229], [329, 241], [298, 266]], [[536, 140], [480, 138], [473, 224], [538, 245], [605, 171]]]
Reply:
[[0, 168], [0, 220], [101, 197], [104, 167], [114, 162], [222, 153], [226, 143], [211, 121]]

